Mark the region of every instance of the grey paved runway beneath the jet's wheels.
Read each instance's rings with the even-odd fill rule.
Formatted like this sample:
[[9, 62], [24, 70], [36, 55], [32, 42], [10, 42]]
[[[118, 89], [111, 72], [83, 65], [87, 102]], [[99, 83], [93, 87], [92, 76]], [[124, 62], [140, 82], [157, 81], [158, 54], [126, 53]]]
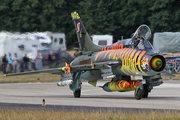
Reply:
[[[105, 82], [98, 82], [102, 86]], [[48, 109], [48, 110], [180, 110], [180, 81], [164, 81], [154, 87], [148, 98], [136, 100], [134, 91], [105, 92], [102, 88], [82, 84], [81, 98], [74, 98], [68, 86], [53, 83], [0, 84], [0, 108]], [[46, 107], [42, 107], [45, 99]]]

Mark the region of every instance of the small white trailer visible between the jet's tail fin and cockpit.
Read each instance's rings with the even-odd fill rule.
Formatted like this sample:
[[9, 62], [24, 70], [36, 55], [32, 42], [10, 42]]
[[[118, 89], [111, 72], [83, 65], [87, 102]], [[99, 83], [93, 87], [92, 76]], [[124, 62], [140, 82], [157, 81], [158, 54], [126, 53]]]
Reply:
[[112, 35], [92, 35], [92, 41], [99, 46], [111, 45], [113, 43]]

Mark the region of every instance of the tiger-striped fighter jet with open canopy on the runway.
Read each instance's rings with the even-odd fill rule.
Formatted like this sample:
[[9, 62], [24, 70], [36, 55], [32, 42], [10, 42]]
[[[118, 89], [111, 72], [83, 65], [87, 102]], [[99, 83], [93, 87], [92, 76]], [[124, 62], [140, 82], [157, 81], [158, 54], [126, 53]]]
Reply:
[[[164, 57], [157, 53], [149, 40], [151, 30], [147, 25], [137, 28], [131, 39], [121, 40], [109, 46], [93, 44], [77, 12], [72, 12], [79, 49], [74, 53], [75, 59], [62, 68], [37, 70], [31, 72], [7, 74], [5, 76], [52, 73], [61, 75], [58, 86], [69, 85], [75, 98], [81, 96], [81, 79], [96, 86], [98, 80], [109, 82], [100, 86], [107, 92], [135, 91], [135, 98], [147, 98], [154, 86], [163, 83], [165, 72]], [[133, 78], [133, 79], [132, 79]], [[134, 80], [135, 79], [135, 80]], [[143, 80], [145, 83], [143, 84]]]

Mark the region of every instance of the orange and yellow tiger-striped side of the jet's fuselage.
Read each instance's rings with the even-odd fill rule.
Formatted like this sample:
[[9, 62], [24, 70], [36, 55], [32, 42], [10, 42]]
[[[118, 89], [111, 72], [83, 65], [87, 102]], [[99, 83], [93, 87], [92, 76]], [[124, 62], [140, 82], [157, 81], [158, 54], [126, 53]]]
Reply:
[[[119, 69], [126, 75], [147, 75], [149, 71], [149, 58], [145, 55], [144, 50], [135, 50], [131, 48], [124, 48], [119, 50], [108, 50], [98, 52], [94, 56], [94, 62], [103, 62], [108, 60], [122, 61]], [[146, 63], [146, 64], [144, 64]], [[145, 67], [143, 67], [145, 65]]]

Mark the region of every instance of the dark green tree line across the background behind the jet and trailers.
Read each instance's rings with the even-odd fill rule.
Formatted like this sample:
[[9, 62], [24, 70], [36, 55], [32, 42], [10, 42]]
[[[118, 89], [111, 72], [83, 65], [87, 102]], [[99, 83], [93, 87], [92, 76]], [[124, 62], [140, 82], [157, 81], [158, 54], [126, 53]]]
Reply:
[[77, 43], [71, 12], [88, 33], [131, 37], [141, 24], [154, 32], [180, 31], [179, 0], [0, 0], [0, 30], [63, 32], [67, 46]]

